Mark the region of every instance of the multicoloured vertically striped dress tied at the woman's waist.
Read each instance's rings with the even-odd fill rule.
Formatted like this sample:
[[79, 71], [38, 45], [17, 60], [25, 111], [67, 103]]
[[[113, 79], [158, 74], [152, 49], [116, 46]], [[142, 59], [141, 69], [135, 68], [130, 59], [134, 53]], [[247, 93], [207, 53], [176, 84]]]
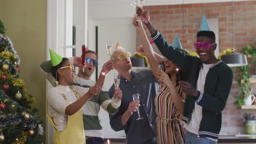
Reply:
[[[181, 87], [176, 88], [180, 94]], [[186, 131], [182, 124], [182, 114], [174, 106], [168, 87], [164, 85], [161, 90], [155, 97], [158, 143], [184, 143]]]

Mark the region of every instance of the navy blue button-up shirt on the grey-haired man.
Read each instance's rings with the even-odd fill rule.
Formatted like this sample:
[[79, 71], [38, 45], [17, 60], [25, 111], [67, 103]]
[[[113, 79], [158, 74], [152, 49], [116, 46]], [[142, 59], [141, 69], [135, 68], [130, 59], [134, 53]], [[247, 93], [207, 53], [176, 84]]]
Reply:
[[[156, 140], [156, 113], [154, 99], [157, 94], [158, 83], [151, 70], [142, 70], [138, 73], [132, 71], [131, 82], [121, 76], [120, 89], [123, 93], [121, 106], [115, 115], [109, 115], [110, 125], [113, 130], [125, 130], [127, 143], [153, 143]], [[136, 121], [138, 113], [132, 116], [123, 127], [121, 117], [128, 109], [133, 93], [139, 93], [139, 113], [144, 119]], [[109, 89], [109, 95], [114, 94], [114, 84]]]

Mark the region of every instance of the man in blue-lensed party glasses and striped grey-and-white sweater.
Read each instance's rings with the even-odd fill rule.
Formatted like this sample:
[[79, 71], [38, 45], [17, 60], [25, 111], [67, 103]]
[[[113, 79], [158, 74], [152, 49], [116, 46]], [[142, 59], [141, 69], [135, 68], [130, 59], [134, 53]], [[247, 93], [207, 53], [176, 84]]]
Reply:
[[[85, 62], [86, 67], [79, 67], [78, 74], [75, 76], [75, 83], [78, 83], [83, 87], [91, 87], [95, 85], [95, 81], [91, 79], [91, 75], [94, 73], [95, 68], [98, 65], [97, 62], [97, 53], [91, 50], [85, 51]], [[111, 70], [112, 63], [108, 61], [102, 67], [100, 76], [98, 80], [104, 82], [105, 75]], [[103, 73], [104, 71], [104, 73]], [[102, 83], [103, 85], [103, 83]], [[100, 92], [96, 97], [88, 100], [83, 106], [83, 121], [84, 121], [84, 130], [86, 135], [87, 144], [103, 144], [103, 135], [102, 127], [98, 117], [98, 112], [100, 111], [100, 106], [107, 111], [110, 115], [113, 115], [118, 111], [118, 108], [121, 104], [122, 92], [119, 88], [115, 89], [115, 92], [112, 93], [117, 95], [117, 99], [109, 98], [109, 93], [107, 91]]]

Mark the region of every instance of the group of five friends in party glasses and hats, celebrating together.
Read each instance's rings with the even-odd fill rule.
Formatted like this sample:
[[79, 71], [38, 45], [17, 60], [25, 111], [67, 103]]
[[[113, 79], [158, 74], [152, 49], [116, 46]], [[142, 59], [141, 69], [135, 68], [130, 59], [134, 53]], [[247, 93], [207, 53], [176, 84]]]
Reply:
[[[104, 143], [100, 107], [109, 113], [113, 130], [125, 130], [129, 144], [217, 143], [232, 70], [214, 56], [214, 32], [197, 33], [195, 57], [168, 44], [142, 8], [133, 25], [141, 42], [137, 51], [148, 58], [150, 70], [132, 71], [130, 53], [118, 46], [95, 82], [91, 75], [98, 65], [96, 52], [87, 50], [83, 63], [82, 57], [63, 58], [50, 50], [48, 63], [57, 81], [46, 96], [48, 118], [55, 128], [53, 143]], [[153, 50], [145, 26], [162, 55]], [[158, 70], [159, 63], [164, 70]], [[79, 67], [77, 75], [74, 66]], [[102, 86], [112, 69], [120, 74], [120, 85], [107, 91]], [[134, 93], [139, 101], [133, 101]], [[143, 119], [136, 120], [137, 110]]]

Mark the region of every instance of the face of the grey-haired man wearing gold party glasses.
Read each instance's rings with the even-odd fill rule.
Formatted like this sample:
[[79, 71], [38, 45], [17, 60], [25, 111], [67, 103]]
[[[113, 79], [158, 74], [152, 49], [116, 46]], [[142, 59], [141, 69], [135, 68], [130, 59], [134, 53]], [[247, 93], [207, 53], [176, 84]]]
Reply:
[[117, 71], [129, 71], [131, 70], [132, 64], [130, 57], [125, 57], [123, 60], [118, 59], [118, 56], [121, 55], [124, 51], [118, 50], [113, 53], [114, 63], [113, 67]]

